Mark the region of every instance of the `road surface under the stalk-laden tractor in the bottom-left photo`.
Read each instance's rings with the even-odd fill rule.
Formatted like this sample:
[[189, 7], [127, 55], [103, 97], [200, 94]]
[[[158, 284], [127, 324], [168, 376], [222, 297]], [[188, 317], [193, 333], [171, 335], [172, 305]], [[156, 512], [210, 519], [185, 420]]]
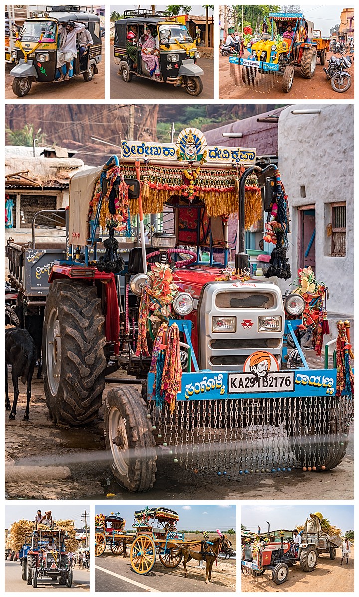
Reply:
[[31, 584], [27, 584], [26, 580], [21, 579], [20, 562], [5, 561], [5, 591], [21, 593], [88, 591], [89, 574], [90, 573], [86, 570], [78, 570], [78, 568], [74, 568], [72, 587], [70, 589], [58, 584], [58, 581], [52, 581], [51, 578], [39, 578], [38, 587], [34, 589]]

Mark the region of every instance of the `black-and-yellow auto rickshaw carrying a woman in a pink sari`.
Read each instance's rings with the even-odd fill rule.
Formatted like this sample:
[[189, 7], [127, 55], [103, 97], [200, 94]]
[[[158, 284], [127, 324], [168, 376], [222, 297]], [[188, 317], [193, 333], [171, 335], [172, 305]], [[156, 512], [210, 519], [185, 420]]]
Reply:
[[[114, 63], [119, 65], [118, 75], [125, 83], [136, 75], [174, 87], [184, 87], [191, 96], [203, 91], [200, 78], [204, 74], [197, 65], [200, 52], [187, 27], [162, 11], [146, 9], [125, 10], [123, 19], [116, 21], [114, 33]], [[159, 61], [159, 75], [151, 76], [143, 59], [143, 35], [149, 30], [156, 46], [153, 48]], [[132, 48], [137, 48], [131, 51]]]

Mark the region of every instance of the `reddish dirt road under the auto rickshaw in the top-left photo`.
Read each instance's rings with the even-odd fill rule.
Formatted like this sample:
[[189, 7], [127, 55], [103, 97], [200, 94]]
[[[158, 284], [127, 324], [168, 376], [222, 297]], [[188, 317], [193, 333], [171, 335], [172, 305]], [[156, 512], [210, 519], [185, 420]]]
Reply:
[[82, 75], [75, 76], [63, 83], [33, 83], [30, 93], [24, 98], [17, 97], [13, 91], [10, 70], [14, 64], [5, 64], [5, 100], [103, 100], [105, 97], [105, 44], [102, 44], [102, 61], [98, 64], [98, 74], [92, 81], [85, 81]]

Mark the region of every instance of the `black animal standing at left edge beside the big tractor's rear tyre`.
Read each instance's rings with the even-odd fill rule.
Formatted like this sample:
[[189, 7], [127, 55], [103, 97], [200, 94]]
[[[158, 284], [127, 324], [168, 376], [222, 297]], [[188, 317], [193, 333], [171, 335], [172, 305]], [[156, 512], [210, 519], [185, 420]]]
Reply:
[[[8, 384], [8, 365], [11, 365], [11, 376], [14, 384], [14, 404], [11, 410], [11, 403], [9, 398], [9, 384]], [[29, 406], [31, 399], [31, 381], [33, 370], [36, 365], [36, 346], [27, 330], [21, 328], [11, 328], [5, 330], [5, 408], [7, 411], [11, 410], [10, 420], [14, 421], [16, 418], [16, 408], [18, 395], [18, 378], [26, 383], [27, 380], [27, 404], [24, 414], [24, 421], [29, 420]]]

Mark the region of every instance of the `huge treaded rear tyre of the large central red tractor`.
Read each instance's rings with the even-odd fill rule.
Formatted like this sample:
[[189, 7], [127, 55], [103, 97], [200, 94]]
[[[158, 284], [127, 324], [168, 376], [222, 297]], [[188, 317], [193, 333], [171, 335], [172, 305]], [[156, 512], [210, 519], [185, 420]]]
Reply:
[[105, 386], [104, 316], [97, 289], [55, 280], [44, 315], [42, 355], [46, 402], [55, 423], [86, 425]]

